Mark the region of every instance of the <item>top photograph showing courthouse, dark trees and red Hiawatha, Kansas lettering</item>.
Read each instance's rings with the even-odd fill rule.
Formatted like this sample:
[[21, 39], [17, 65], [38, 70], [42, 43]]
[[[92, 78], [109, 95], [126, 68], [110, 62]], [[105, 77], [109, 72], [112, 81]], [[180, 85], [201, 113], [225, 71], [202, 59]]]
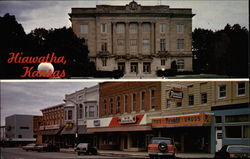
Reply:
[[248, 78], [248, 1], [0, 1], [0, 79]]

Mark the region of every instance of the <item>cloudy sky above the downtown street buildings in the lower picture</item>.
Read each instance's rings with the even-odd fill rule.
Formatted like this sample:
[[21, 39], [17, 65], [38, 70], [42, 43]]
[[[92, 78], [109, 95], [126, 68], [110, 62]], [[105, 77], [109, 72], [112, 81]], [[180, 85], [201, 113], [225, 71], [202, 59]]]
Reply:
[[13, 114], [42, 115], [41, 109], [64, 103], [65, 94], [74, 93], [96, 82], [3, 82], [1, 81], [1, 125]]

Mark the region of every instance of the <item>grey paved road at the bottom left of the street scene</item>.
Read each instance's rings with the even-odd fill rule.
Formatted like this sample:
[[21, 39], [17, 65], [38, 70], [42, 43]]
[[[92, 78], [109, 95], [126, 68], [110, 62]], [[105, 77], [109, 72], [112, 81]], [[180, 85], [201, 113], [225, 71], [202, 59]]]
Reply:
[[[21, 148], [1, 148], [1, 159], [73, 159], [73, 158], [117, 158], [100, 155], [81, 155], [63, 152], [24, 151]], [[120, 158], [120, 157], [119, 157]]]

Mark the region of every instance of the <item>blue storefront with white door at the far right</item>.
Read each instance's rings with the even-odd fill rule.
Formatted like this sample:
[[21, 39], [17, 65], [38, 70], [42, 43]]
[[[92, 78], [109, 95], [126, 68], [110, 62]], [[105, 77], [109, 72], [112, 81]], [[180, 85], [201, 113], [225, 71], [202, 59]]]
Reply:
[[223, 145], [249, 145], [249, 103], [212, 107], [211, 152]]

